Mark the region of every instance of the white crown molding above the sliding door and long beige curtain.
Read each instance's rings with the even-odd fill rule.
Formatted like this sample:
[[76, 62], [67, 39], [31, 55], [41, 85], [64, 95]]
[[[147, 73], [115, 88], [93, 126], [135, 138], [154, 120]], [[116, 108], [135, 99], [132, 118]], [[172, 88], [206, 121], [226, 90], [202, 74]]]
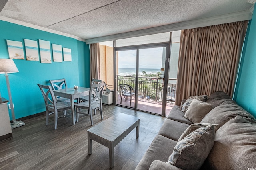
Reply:
[[246, 10], [246, 11], [226, 14], [222, 16], [214, 16], [214, 17], [202, 18], [198, 20], [184, 21], [184, 22], [173, 23], [169, 25], [152, 27], [148, 29], [142, 29], [142, 30], [131, 31], [126, 33], [108, 35], [104, 37], [86, 39], [85, 42], [86, 44], [99, 43], [104, 41], [112, 41], [117, 39], [138, 37], [138, 36], [164, 33], [164, 32], [170, 32], [170, 31], [178, 31], [182, 29], [206, 27], [211, 25], [218, 25], [223, 23], [231, 23], [231, 22], [251, 20], [251, 19], [252, 19], [252, 12], [250, 10]]

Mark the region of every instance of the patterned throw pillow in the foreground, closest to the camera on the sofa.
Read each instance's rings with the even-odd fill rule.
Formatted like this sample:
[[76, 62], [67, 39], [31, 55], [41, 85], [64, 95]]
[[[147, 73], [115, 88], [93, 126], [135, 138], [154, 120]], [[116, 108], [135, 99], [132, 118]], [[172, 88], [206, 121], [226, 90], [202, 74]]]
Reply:
[[169, 163], [186, 170], [199, 169], [214, 145], [214, 125], [200, 127], [174, 147]]

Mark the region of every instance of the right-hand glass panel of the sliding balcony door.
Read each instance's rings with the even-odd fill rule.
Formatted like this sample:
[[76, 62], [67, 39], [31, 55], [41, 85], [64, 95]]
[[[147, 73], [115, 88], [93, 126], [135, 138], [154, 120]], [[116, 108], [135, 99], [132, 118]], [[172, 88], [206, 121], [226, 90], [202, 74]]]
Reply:
[[139, 49], [137, 109], [162, 114], [166, 47]]

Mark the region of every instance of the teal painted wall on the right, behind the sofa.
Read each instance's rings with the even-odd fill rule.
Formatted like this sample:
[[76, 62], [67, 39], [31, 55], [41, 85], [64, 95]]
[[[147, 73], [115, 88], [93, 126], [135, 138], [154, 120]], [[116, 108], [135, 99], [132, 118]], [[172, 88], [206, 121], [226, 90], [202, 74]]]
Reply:
[[256, 14], [249, 22], [234, 100], [256, 117]]

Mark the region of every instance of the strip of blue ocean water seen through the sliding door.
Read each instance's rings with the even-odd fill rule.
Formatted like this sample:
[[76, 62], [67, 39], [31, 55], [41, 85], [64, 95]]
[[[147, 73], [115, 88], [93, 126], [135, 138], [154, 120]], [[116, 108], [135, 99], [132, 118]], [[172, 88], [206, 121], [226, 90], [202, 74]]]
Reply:
[[[139, 68], [139, 75], [143, 75], [142, 71], [145, 71], [146, 74], [157, 74], [158, 72], [161, 72], [160, 68]], [[118, 75], [121, 76], [132, 76], [135, 73], [135, 68], [118, 68]]]

